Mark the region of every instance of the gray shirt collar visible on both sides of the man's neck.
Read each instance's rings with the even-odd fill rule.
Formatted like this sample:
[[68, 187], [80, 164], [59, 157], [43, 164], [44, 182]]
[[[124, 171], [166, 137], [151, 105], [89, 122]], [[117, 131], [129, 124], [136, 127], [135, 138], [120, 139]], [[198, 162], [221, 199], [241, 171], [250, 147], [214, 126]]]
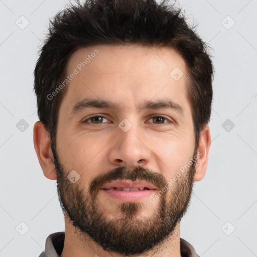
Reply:
[[[46, 239], [45, 251], [39, 257], [59, 257], [64, 246], [65, 232], [50, 234]], [[185, 239], [180, 238], [180, 254], [182, 257], [200, 257], [194, 247]]]

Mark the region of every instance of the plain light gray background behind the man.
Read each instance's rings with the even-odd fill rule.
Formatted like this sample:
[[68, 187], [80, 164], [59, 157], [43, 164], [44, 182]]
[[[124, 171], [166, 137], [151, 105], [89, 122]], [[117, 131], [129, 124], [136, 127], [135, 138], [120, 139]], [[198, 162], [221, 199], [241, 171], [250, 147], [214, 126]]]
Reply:
[[[0, 0], [0, 257], [38, 256], [50, 233], [64, 231], [55, 181], [44, 177], [33, 146], [33, 70], [48, 19], [67, 3]], [[257, 1], [181, 0], [177, 6], [190, 24], [199, 23], [215, 67], [208, 168], [195, 183], [181, 237], [200, 256], [257, 256]], [[26, 25], [21, 16], [29, 21], [23, 30], [16, 25]], [[23, 132], [21, 119], [29, 125]], [[233, 128], [223, 124], [227, 119]]]

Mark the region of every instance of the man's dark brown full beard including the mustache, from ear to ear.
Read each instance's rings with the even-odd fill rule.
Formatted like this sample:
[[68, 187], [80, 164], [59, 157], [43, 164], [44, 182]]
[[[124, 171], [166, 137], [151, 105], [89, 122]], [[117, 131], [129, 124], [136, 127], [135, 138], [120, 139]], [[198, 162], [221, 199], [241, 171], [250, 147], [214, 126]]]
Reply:
[[[63, 213], [69, 216], [72, 225], [85, 240], [88, 240], [89, 235], [106, 251], [125, 255], [147, 254], [151, 251], [153, 254], [173, 235], [177, 223], [186, 213], [193, 188], [195, 161], [168, 190], [162, 191], [157, 199], [158, 207], [155, 207], [151, 216], [137, 219], [137, 215], [144, 210], [143, 202], [120, 202], [115, 204], [115, 210], [119, 210], [122, 215], [107, 219], [108, 210], [97, 199], [103, 184], [113, 180], [143, 180], [162, 189], [167, 186], [168, 181], [161, 174], [143, 167], [118, 167], [93, 178], [86, 190], [79, 181], [71, 183], [67, 178], [68, 172], [59, 163], [55, 151], [53, 155], [57, 191]], [[159, 190], [156, 193], [158, 192]]]

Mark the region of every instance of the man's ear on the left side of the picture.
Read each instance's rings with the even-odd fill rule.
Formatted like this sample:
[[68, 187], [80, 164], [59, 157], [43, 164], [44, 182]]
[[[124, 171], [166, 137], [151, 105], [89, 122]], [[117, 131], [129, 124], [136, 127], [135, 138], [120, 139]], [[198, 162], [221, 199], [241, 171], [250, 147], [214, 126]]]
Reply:
[[56, 180], [57, 176], [53, 161], [54, 157], [50, 146], [50, 136], [41, 121], [37, 121], [34, 124], [33, 138], [34, 148], [45, 177]]

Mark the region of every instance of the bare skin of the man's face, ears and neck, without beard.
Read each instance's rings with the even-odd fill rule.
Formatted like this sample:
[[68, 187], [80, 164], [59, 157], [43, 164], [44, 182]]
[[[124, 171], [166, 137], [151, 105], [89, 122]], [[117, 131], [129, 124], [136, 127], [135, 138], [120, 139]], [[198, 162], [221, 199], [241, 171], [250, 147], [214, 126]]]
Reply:
[[[186, 65], [176, 50], [168, 47], [147, 48], [134, 44], [82, 48], [70, 57], [67, 74], [72, 73], [95, 49], [99, 50], [99, 54], [68, 84], [59, 109], [56, 137], [56, 152], [63, 168], [62, 172], [67, 176], [75, 170], [80, 175], [75, 184], [68, 181], [70, 184], [67, 185], [73, 185], [75, 190], [80, 189], [84, 200], [89, 199], [88, 189], [93, 179], [97, 176], [108, 176], [110, 171], [121, 167], [126, 171], [142, 167], [147, 175], [152, 171], [155, 174], [154, 179], [160, 175], [161, 182], [168, 181], [176, 175], [180, 167], [189, 162], [195, 147], [192, 111], [185, 92]], [[170, 76], [175, 67], [179, 67], [184, 73], [178, 81]], [[71, 116], [72, 107], [86, 97], [112, 101], [118, 104], [118, 108], [88, 108]], [[184, 117], [173, 109], [136, 109], [137, 104], [144, 100], [159, 99], [178, 103], [184, 109]], [[82, 122], [93, 114], [103, 116], [102, 123], [94, 119], [89, 119], [87, 123]], [[151, 117], [152, 114], [162, 115], [167, 119], [158, 122]], [[124, 118], [132, 124], [127, 132], [123, 132], [118, 126]], [[205, 176], [210, 143], [210, 129], [206, 124], [200, 136], [200, 157], [197, 159], [192, 181], [200, 181]], [[34, 147], [44, 175], [51, 180], [58, 179], [50, 136], [40, 121], [34, 125]], [[187, 185], [183, 178], [188, 178], [188, 174], [185, 173], [174, 183], [175, 186], [168, 188], [165, 202], [167, 205], [172, 202], [170, 199], [173, 199], [178, 191], [176, 185]], [[154, 181], [157, 183], [157, 180]], [[59, 183], [64, 199], [67, 200], [65, 187], [61, 187], [65, 182], [61, 177]], [[95, 194], [96, 208], [101, 211], [106, 221], [112, 220], [116, 226], [118, 223], [115, 221], [119, 218], [127, 218], [126, 224], [131, 226], [134, 224], [132, 217], [136, 217], [138, 225], [146, 219], [154, 220], [153, 214], [159, 210], [163, 199], [159, 198], [155, 203], [151, 203], [149, 198], [141, 200], [133, 205], [134, 209], [129, 208], [132, 203], [126, 206], [132, 215], [125, 216], [120, 201], [113, 200], [100, 190], [95, 191]], [[71, 204], [71, 201], [67, 200], [67, 204]], [[179, 226], [178, 221], [166, 240], [153, 247], [152, 251], [138, 251], [134, 256], [181, 256]], [[142, 227], [138, 229], [140, 231]], [[101, 245], [91, 240], [90, 236], [78, 233], [69, 215], [65, 213], [65, 242], [61, 257], [96, 254], [125, 256], [122, 252], [104, 250]]]

